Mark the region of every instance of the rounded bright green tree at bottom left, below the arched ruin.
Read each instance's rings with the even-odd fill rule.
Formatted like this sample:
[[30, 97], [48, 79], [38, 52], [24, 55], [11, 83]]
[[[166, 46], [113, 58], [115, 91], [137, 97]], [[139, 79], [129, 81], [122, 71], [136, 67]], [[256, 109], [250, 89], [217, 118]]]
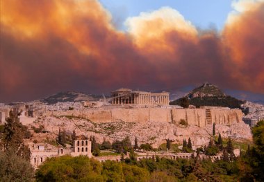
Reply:
[[36, 181], [105, 181], [99, 161], [87, 156], [48, 158], [36, 171]]

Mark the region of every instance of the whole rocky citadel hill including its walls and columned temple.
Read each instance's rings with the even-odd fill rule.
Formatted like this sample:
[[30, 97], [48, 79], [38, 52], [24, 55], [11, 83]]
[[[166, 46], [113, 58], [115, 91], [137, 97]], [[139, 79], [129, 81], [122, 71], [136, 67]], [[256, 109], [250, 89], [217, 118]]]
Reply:
[[[240, 109], [226, 107], [200, 107], [183, 109], [169, 105], [168, 92], [151, 93], [118, 89], [108, 98], [75, 102], [17, 103], [15, 108], [22, 112], [20, 120], [29, 128], [42, 128], [48, 133], [33, 134], [38, 142], [55, 140], [59, 128], [71, 134], [95, 136], [99, 142], [105, 138], [110, 142], [129, 136], [139, 143], [150, 143], [154, 147], [166, 139], [182, 143], [191, 138], [193, 146], [208, 145], [212, 136], [213, 123], [216, 132], [224, 138], [251, 140], [248, 125], [242, 122]], [[83, 97], [83, 96], [82, 96]], [[67, 99], [61, 96], [60, 99]], [[79, 98], [78, 98], [79, 99]], [[1, 107], [1, 116], [8, 116], [11, 107]], [[2, 120], [3, 122], [3, 120]]]

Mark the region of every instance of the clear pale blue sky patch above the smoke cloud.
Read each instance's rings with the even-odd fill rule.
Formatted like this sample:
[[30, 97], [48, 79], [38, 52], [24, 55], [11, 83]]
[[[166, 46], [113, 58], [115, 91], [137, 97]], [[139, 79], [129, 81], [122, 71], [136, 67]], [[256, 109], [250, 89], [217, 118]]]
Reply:
[[164, 6], [178, 10], [197, 28], [212, 27], [221, 30], [229, 12], [233, 10], [230, 0], [101, 0], [101, 3], [111, 12], [117, 28], [123, 30], [126, 29], [123, 25], [126, 18], [138, 16], [140, 12], [151, 12]]

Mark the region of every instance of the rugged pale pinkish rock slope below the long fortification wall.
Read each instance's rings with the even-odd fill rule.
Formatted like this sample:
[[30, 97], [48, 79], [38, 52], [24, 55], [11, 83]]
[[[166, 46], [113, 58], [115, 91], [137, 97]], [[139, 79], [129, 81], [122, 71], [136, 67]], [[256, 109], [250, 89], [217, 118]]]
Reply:
[[[181, 144], [183, 138], [188, 139], [189, 137], [193, 146], [208, 145], [213, 133], [212, 125], [198, 127], [163, 121], [125, 122], [124, 120], [92, 122], [85, 118], [71, 118], [69, 116], [43, 116], [36, 120], [34, 125], [43, 125], [44, 129], [51, 131], [50, 136], [53, 138], [56, 138], [59, 128], [69, 134], [75, 129], [77, 135], [95, 136], [99, 143], [102, 143], [104, 138], [113, 142], [114, 140], [122, 140], [126, 136], [129, 136], [133, 143], [136, 136], [139, 144], [150, 143], [153, 147], [165, 143], [165, 139], [168, 138], [174, 143]], [[244, 122], [236, 122], [231, 125], [217, 124], [215, 129], [216, 134], [220, 133], [224, 138], [251, 140], [250, 128]]]

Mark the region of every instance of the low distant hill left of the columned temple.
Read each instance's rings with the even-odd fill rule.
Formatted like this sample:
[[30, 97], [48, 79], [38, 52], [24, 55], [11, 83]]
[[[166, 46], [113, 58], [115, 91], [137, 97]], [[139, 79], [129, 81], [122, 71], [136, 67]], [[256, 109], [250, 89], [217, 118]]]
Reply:
[[54, 95], [50, 95], [47, 98], [40, 100], [41, 102], [45, 102], [47, 104], [56, 104], [57, 102], [76, 102], [76, 101], [86, 101], [86, 100], [99, 100], [101, 96], [79, 93], [75, 91], [65, 91], [59, 92]]

